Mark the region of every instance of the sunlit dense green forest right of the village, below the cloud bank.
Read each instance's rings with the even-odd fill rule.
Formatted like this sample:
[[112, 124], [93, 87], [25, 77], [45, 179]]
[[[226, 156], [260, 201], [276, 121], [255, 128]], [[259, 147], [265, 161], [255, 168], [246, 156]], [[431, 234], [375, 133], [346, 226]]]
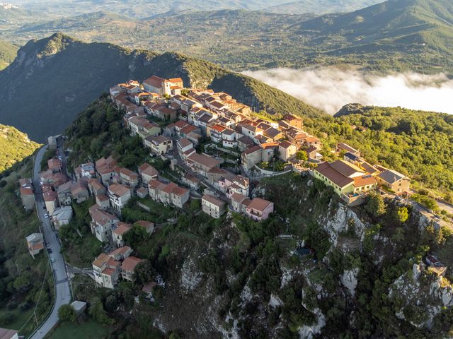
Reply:
[[396, 169], [420, 186], [453, 191], [450, 114], [349, 105], [335, 118], [307, 120], [306, 124], [311, 131], [327, 133], [331, 146], [344, 141], [361, 150], [370, 162]]

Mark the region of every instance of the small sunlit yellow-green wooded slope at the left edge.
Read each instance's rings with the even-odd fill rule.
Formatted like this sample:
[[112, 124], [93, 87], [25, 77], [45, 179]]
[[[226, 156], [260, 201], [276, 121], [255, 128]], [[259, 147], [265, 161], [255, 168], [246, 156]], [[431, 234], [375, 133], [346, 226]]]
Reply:
[[40, 147], [14, 127], [0, 124], [0, 173], [23, 158], [32, 155]]

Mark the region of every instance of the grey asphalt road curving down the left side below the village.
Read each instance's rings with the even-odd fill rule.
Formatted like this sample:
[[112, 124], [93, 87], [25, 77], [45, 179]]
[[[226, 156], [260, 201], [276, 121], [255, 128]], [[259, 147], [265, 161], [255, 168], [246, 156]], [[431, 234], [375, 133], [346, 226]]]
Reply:
[[[42, 194], [41, 194], [41, 187], [40, 187], [40, 178], [38, 176], [38, 172], [40, 172], [40, 162], [42, 160], [42, 156], [47, 149], [47, 145], [42, 147], [38, 154], [35, 157], [35, 164], [33, 167], [33, 186], [35, 187], [35, 199], [36, 199], [36, 210], [38, 213], [38, 218], [42, 221], [42, 232], [44, 232], [45, 242], [50, 244], [50, 248], [52, 249], [52, 254], [50, 254], [50, 258], [52, 258], [51, 265], [53, 274], [55, 277], [55, 284], [56, 284], [56, 295], [54, 299], [54, 307], [52, 309], [52, 313], [50, 314], [49, 318], [41, 324], [40, 328], [31, 336], [32, 339], [42, 339], [49, 333], [52, 328], [58, 323], [58, 309], [63, 304], [69, 304], [71, 301], [71, 292], [69, 289], [69, 281], [67, 278], [67, 273], [65, 269], [64, 259], [62, 254], [60, 253], [60, 244], [59, 240], [56, 237], [55, 232], [52, 230], [50, 226], [50, 221], [44, 218], [45, 213], [47, 211], [42, 208]], [[61, 148], [60, 148], [61, 149]]]

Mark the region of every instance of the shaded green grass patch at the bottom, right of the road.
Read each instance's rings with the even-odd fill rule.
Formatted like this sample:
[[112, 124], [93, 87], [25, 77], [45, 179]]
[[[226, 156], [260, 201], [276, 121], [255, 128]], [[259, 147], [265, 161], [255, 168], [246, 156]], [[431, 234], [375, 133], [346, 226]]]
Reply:
[[96, 338], [101, 339], [105, 338], [108, 335], [110, 328], [100, 323], [88, 320], [84, 323], [76, 324], [69, 323], [67, 321], [60, 323], [55, 330], [47, 335], [46, 339], [68, 339], [68, 338], [77, 338], [77, 339], [88, 339]]

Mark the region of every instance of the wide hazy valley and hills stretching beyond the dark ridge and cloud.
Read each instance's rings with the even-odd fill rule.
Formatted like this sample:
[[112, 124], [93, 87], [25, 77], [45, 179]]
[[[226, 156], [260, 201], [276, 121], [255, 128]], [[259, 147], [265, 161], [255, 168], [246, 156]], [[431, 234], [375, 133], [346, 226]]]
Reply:
[[[304, 6], [328, 8], [327, 3], [350, 8], [348, 4], [355, 1], [312, 0]], [[88, 42], [183, 52], [234, 71], [348, 63], [384, 72], [453, 74], [452, 6], [449, 0], [390, 0], [323, 16], [172, 11], [144, 20], [101, 11], [25, 24], [4, 31], [4, 37], [24, 44], [30, 37], [40, 39], [61, 31]]]

